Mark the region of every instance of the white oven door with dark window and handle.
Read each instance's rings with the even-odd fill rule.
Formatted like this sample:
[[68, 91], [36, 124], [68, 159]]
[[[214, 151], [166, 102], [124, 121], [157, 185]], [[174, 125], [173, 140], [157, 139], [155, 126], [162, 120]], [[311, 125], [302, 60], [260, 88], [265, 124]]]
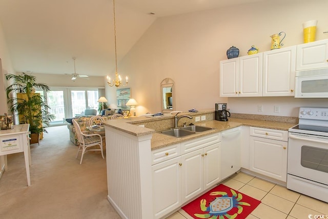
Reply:
[[328, 137], [289, 132], [289, 174], [328, 185]]

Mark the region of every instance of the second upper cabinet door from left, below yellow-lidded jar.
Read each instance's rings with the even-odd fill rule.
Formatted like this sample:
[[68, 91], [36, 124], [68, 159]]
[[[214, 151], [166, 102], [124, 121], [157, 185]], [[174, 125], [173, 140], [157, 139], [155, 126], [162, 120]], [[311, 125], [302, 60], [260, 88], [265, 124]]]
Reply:
[[263, 54], [239, 57], [239, 96], [262, 96]]

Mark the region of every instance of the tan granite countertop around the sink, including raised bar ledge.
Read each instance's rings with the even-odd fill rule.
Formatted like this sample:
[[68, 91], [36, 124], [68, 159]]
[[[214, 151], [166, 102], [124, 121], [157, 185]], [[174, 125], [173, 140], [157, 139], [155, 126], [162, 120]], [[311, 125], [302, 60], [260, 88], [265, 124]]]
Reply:
[[[181, 113], [182, 114], [182, 113]], [[286, 122], [276, 122], [276, 121], [266, 121], [266, 120], [254, 120], [250, 118], [229, 118], [229, 121], [227, 122], [221, 122], [216, 120], [210, 120], [210, 121], [203, 121], [194, 123], [195, 125], [199, 126], [207, 126], [213, 128], [212, 130], [199, 132], [196, 134], [188, 135], [186, 137], [173, 137], [165, 134], [158, 133], [159, 130], [154, 130], [150, 128], [144, 128], [139, 127], [133, 124], [140, 123], [140, 122], [148, 122], [148, 121], [158, 121], [158, 123], [162, 123], [163, 120], [168, 118], [174, 118], [171, 114], [166, 114], [165, 116], [161, 117], [154, 117], [149, 118], [145, 116], [141, 117], [131, 117], [126, 118], [125, 120], [109, 120], [105, 121], [104, 125], [109, 126], [111, 128], [124, 131], [128, 134], [134, 135], [134, 136], [142, 136], [142, 135], [152, 135], [151, 140], [151, 149], [155, 150], [158, 148], [166, 147], [169, 145], [177, 144], [180, 142], [185, 142], [188, 140], [192, 140], [194, 138], [198, 138], [201, 136], [206, 136], [209, 134], [221, 132], [227, 129], [232, 129], [238, 126], [254, 126], [254, 127], [260, 127], [260, 128], [269, 128], [269, 129], [278, 129], [278, 130], [284, 130], [288, 131], [289, 128], [297, 125], [297, 123], [286, 123]]]

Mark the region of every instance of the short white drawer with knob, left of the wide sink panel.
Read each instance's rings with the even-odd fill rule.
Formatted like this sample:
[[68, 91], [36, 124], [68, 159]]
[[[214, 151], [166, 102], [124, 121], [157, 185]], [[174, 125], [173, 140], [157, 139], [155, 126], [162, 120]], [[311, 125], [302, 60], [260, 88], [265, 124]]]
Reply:
[[152, 151], [152, 165], [180, 156], [180, 144], [159, 148]]

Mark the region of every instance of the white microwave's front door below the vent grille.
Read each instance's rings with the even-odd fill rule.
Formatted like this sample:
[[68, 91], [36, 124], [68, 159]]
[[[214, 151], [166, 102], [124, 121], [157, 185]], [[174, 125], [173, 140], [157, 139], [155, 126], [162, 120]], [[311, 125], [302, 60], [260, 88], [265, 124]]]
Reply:
[[326, 98], [328, 96], [328, 74], [296, 77], [295, 97]]

